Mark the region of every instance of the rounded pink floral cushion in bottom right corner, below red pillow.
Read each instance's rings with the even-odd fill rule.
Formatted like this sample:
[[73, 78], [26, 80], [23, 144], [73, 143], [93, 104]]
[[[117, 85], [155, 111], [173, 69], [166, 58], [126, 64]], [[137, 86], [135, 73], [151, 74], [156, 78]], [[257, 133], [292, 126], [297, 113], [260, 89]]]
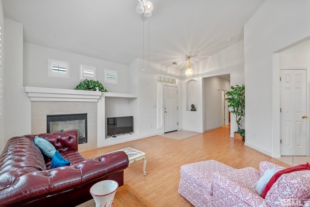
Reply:
[[301, 202], [310, 199], [310, 171], [283, 174], [272, 185], [265, 197], [268, 206], [283, 206], [286, 201]]

